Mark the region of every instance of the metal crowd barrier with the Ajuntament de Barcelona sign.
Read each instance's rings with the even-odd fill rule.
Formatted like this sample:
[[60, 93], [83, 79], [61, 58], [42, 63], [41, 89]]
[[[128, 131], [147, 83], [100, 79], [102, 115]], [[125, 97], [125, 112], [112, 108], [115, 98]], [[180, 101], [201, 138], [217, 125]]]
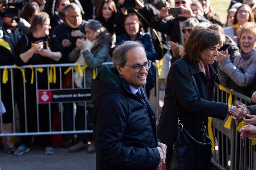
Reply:
[[[104, 65], [107, 65], [107, 64], [112, 64], [112, 62], [104, 62], [103, 64], [102, 64], [102, 66], [104, 66]], [[82, 67], [83, 65], [85, 65], [85, 64], [80, 64], [80, 66]], [[85, 74], [86, 74], [86, 69], [84, 69], [83, 70], [83, 82], [84, 82], [84, 87], [85, 88], [75, 88], [75, 85], [74, 85], [74, 72], [75, 72], [75, 64], [55, 64], [54, 65], [55, 66], [55, 68], [56, 68], [56, 71], [58, 71], [58, 74], [59, 74], [59, 82], [57, 82], [57, 83], [59, 83], [59, 89], [51, 89], [50, 88], [50, 83], [48, 82], [47, 83], [47, 86], [48, 86], [48, 88], [47, 89], [38, 89], [37, 87], [38, 87], [38, 84], [37, 84], [37, 69], [38, 68], [43, 68], [43, 69], [46, 69], [47, 70], [47, 75], [48, 75], [48, 77], [47, 78], [49, 78], [49, 73], [51, 72], [50, 71], [50, 69], [51, 69], [51, 67], [52, 67], [52, 65], [50, 65], [50, 64], [43, 64], [43, 65], [32, 65], [32, 66], [30, 66], [30, 65], [25, 65], [25, 66], [22, 66], [22, 67], [20, 67], [23, 71], [24, 71], [24, 69], [31, 69], [31, 67], [33, 68], [33, 70], [34, 70], [34, 73], [35, 73], [35, 80], [34, 80], [34, 82], [33, 83], [35, 83], [36, 84], [36, 91], [37, 91], [37, 93], [36, 93], [36, 100], [37, 100], [37, 102], [36, 102], [36, 105], [37, 105], [37, 113], [35, 113], [37, 116], [36, 116], [36, 122], [37, 122], [37, 130], [36, 131], [34, 131], [34, 132], [27, 132], [27, 119], [26, 119], [26, 117], [27, 117], [27, 108], [26, 108], [26, 93], [25, 93], [25, 91], [26, 91], [26, 88], [25, 88], [25, 82], [24, 82], [24, 79], [23, 79], [23, 85], [24, 85], [24, 88], [23, 88], [23, 91], [22, 92], [19, 92], [19, 93], [23, 93], [24, 94], [24, 101], [25, 101], [25, 103], [24, 103], [24, 109], [25, 109], [25, 126], [26, 126], [26, 131], [25, 132], [19, 132], [17, 129], [16, 129], [16, 116], [15, 116], [15, 109], [14, 109], [14, 107], [15, 107], [15, 99], [14, 99], [14, 70], [16, 70], [16, 69], [18, 69], [17, 67], [15, 67], [15, 66], [13, 66], [13, 65], [9, 65], [9, 66], [7, 66], [7, 69], [10, 71], [10, 77], [9, 77], [9, 81], [11, 81], [11, 89], [12, 89], [12, 110], [13, 110], [13, 113], [12, 113], [12, 117], [13, 117], [13, 132], [12, 133], [3, 133], [3, 118], [2, 118], [2, 116], [0, 115], [0, 123], [1, 123], [1, 126], [0, 126], [0, 128], [1, 128], [1, 131], [0, 131], [0, 137], [5, 137], [6, 138], [6, 136], [27, 136], [27, 135], [59, 135], [59, 134], [77, 134], [77, 133], [92, 133], [92, 130], [88, 130], [87, 129], [87, 119], [86, 119], [86, 109], [85, 109], [85, 130], [75, 130], [75, 108], [74, 108], [74, 104], [76, 103], [76, 101], [73, 101], [73, 100], [67, 100], [67, 101], [54, 101], [54, 99], [52, 99], [52, 101], [51, 102], [48, 102], [46, 99], [48, 99], [48, 98], [50, 98], [50, 96], [48, 95], [48, 93], [47, 92], [51, 92], [52, 94], [54, 93], [54, 94], [58, 94], [59, 96], [65, 96], [66, 95], [66, 92], [68, 91], [70, 94], [72, 94], [73, 96], [75, 95], [75, 96], [78, 96], [78, 93], [80, 93], [80, 95], [81, 96], [86, 96], [86, 97], [89, 97], [89, 100], [88, 100], [88, 98], [86, 98], [83, 102], [84, 102], [84, 104], [85, 104], [85, 108], [86, 108], [86, 103], [87, 102], [89, 102], [90, 101], [90, 99], [91, 99], [91, 92], [90, 92], [90, 88], [86, 88], [86, 84], [85, 84], [85, 82], [86, 82], [86, 79], [85, 79]], [[70, 72], [72, 72], [72, 88], [68, 88], [68, 89], [64, 89], [63, 87], [62, 87], [62, 79], [63, 79], [63, 72], [64, 71], [66, 71], [66, 69], [68, 68], [68, 67], [71, 67], [71, 70], [70, 70]], [[155, 71], [156, 71], [156, 80], [158, 79], [158, 68], [157, 68], [157, 66], [155, 65], [155, 64], [152, 64], [152, 67], [155, 69]], [[5, 68], [5, 66], [0, 66], [0, 70], [3, 70]], [[17, 70], [17, 71], [19, 71], [19, 70]], [[53, 70], [52, 70], [53, 71]], [[97, 69], [95, 70], [95, 72], [97, 73]], [[39, 73], [38, 73], [39, 74]], [[3, 77], [3, 75], [0, 75], [0, 81], [2, 81], [2, 77]], [[30, 83], [30, 82], [27, 82], [27, 83]], [[0, 88], [1, 88], [1, 85], [0, 85]], [[156, 86], [155, 86], [155, 88], [156, 88], [156, 93], [155, 93], [155, 96], [156, 96], [156, 116], [158, 116], [159, 115], [159, 112], [158, 112], [158, 110], [159, 110], [159, 106], [158, 106], [158, 84], [156, 83]], [[65, 92], [65, 93], [62, 93], [62, 92]], [[16, 92], [15, 92], [16, 93]], [[44, 96], [43, 96], [44, 95]], [[53, 96], [52, 96], [53, 97]], [[46, 102], [42, 102], [42, 100], [46, 100]], [[1, 91], [0, 91], [0, 102], [1, 102]], [[69, 131], [64, 131], [63, 130], [63, 103], [72, 103], [72, 105], [73, 105], [73, 130], [69, 130]], [[81, 102], [81, 100], [80, 100], [80, 102]], [[39, 110], [38, 110], [38, 108], [39, 108], [39, 105], [41, 104], [41, 103], [47, 103], [48, 104], [48, 106], [49, 106], [49, 132], [41, 132], [40, 131], [40, 129], [39, 129]], [[58, 105], [59, 105], [59, 112], [60, 112], [60, 116], [61, 116], [61, 118], [60, 118], [60, 120], [61, 120], [61, 127], [59, 127], [59, 131], [53, 131], [52, 130], [52, 113], [51, 113], [51, 103], [58, 103]], [[0, 113], [1, 114], [1, 113]], [[5, 139], [6, 140], [6, 139]]]

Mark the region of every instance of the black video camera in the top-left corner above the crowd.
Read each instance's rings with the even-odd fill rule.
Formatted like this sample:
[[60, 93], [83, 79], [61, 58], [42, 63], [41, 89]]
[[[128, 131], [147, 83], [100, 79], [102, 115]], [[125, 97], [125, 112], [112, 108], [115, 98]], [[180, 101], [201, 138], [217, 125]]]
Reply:
[[[5, 17], [18, 17], [19, 10], [22, 9], [22, 7], [26, 2], [27, 1], [24, 1], [24, 0], [14, 0], [13, 2], [9, 2], [9, 0], [0, 0], [0, 4], [3, 4], [5, 6], [5, 9], [4, 9]], [[13, 6], [13, 7], [10, 7], [10, 6]]]

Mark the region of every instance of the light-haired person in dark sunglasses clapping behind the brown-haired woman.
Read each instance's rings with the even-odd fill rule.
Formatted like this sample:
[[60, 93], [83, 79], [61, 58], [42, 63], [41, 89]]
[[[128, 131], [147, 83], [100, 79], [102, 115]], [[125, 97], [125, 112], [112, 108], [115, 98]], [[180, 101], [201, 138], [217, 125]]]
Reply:
[[[181, 30], [183, 33], [184, 42], [188, 39], [188, 36], [198, 24], [199, 24], [199, 21], [196, 18], [188, 18], [186, 21], [184, 21], [182, 30]], [[171, 51], [173, 53], [173, 58], [171, 58], [171, 63], [173, 63], [177, 59], [183, 58], [185, 54], [183, 44], [180, 45], [178, 43], [174, 43], [173, 41], [168, 41], [168, 45], [171, 48]]]

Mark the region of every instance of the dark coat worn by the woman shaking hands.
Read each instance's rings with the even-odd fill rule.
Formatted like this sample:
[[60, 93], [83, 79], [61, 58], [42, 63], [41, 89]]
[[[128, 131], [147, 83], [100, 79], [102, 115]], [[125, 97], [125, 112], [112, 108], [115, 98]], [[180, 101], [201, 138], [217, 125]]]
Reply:
[[[214, 81], [217, 74], [210, 65], [209, 71], [213, 88], [208, 95], [206, 76], [196, 64], [191, 63], [184, 56], [183, 59], [179, 59], [171, 65], [167, 76], [164, 106], [157, 126], [158, 139], [167, 145], [167, 169], [172, 168], [173, 143], [177, 138], [178, 131], [177, 111], [172, 90], [181, 123], [196, 140], [201, 139], [201, 121], [204, 121], [204, 125], [208, 125], [208, 116], [223, 120], [227, 115], [227, 104], [213, 102]], [[197, 95], [191, 75], [194, 75], [200, 97]]]

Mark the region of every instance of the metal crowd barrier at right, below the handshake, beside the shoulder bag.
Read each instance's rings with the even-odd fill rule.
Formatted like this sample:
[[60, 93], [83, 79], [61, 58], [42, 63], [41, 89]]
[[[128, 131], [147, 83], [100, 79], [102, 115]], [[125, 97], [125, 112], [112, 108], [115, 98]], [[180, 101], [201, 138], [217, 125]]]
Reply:
[[[232, 95], [232, 101], [238, 100], [246, 106], [251, 105], [249, 97], [236, 91], [230, 91], [226, 88], [227, 92], [220, 90], [219, 84], [216, 85], [216, 98], [217, 102], [228, 102], [229, 94]], [[215, 149], [211, 162], [221, 170], [255, 170], [256, 169], [256, 151], [255, 146], [252, 146], [252, 140], [240, 139], [240, 133], [237, 131], [237, 126], [232, 120], [231, 128], [224, 128], [224, 121], [213, 119], [211, 124], [213, 135], [215, 137]]]

